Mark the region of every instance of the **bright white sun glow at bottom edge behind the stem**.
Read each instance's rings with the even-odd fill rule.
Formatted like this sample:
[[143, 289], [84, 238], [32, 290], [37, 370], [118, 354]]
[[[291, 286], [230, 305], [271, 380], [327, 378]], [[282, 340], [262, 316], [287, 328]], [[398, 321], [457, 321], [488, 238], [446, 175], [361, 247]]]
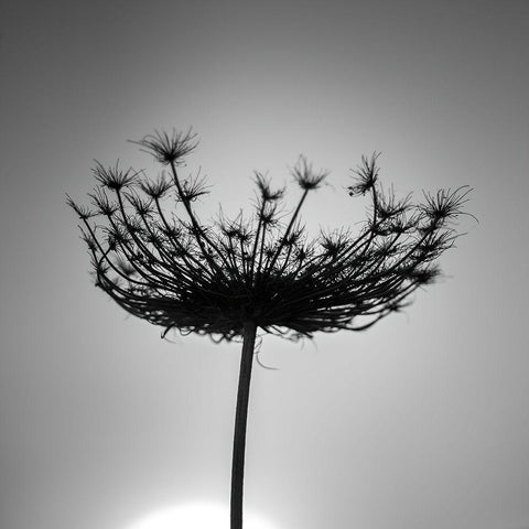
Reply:
[[[276, 529], [274, 526], [244, 514], [245, 529]], [[228, 529], [229, 509], [215, 504], [188, 504], [153, 512], [127, 529]]]

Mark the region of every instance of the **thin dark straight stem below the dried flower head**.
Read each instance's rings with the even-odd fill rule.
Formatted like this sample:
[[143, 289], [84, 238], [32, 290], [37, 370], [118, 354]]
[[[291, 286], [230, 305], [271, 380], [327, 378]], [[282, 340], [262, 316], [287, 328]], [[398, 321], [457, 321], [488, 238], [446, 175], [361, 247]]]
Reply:
[[247, 322], [242, 333], [239, 387], [235, 412], [234, 455], [231, 462], [231, 510], [230, 529], [242, 529], [242, 482], [245, 476], [246, 423], [250, 396], [251, 366], [256, 345], [257, 325]]

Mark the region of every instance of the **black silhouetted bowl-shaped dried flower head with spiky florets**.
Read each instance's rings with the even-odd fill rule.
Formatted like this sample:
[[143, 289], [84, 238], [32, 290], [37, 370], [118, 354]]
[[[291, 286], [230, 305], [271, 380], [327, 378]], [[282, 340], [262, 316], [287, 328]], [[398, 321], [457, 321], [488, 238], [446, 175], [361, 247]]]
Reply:
[[208, 193], [205, 180], [177, 171], [195, 136], [156, 132], [136, 143], [166, 168], [164, 176], [151, 181], [98, 163], [91, 205], [68, 203], [83, 222], [96, 285], [164, 334], [174, 328], [229, 341], [249, 321], [289, 338], [365, 330], [438, 278], [434, 261], [457, 237], [452, 220], [471, 191], [439, 191], [413, 205], [410, 196], [384, 191], [376, 155], [363, 158], [348, 193], [370, 196], [364, 226], [356, 235], [341, 229], [309, 240], [300, 210], [327, 173], [300, 158], [292, 175], [301, 197], [287, 222], [284, 190], [256, 173], [252, 217], [206, 226], [193, 207]]

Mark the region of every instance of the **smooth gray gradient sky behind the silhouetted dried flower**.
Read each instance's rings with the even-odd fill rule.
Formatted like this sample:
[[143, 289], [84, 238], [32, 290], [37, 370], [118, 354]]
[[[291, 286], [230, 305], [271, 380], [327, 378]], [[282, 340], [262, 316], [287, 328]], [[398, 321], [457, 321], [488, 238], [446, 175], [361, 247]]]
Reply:
[[[469, 184], [446, 281], [365, 334], [264, 338], [246, 505], [277, 529], [529, 527], [527, 1], [12, 1], [0, 13], [0, 526], [126, 529], [228, 501], [237, 345], [159, 339], [91, 285], [64, 204], [96, 158], [192, 125], [190, 165], [332, 171], [311, 226], [382, 151], [398, 193]], [[292, 188], [290, 199], [296, 192]]]

